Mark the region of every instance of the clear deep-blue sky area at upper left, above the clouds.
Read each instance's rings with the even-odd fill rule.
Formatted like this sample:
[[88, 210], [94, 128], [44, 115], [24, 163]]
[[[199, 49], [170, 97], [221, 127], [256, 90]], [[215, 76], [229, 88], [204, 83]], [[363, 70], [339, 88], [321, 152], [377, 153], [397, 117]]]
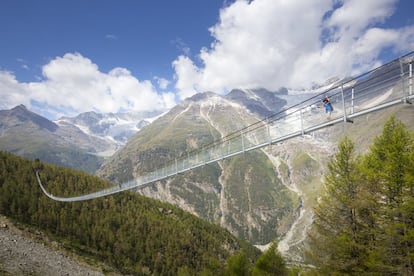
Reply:
[[211, 43], [208, 28], [218, 21], [223, 0], [2, 0], [0, 5], [6, 26], [0, 66], [20, 81], [35, 81], [49, 60], [76, 52], [101, 71], [124, 67], [150, 79], [170, 77], [171, 62], [183, 47], [191, 44], [198, 51]]

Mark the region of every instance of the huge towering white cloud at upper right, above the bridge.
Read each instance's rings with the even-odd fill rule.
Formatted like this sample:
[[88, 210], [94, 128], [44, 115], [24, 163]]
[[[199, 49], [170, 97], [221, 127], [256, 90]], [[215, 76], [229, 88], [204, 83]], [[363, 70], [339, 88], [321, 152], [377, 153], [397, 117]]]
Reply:
[[413, 26], [382, 28], [396, 0], [238, 0], [210, 28], [214, 42], [197, 66], [173, 62], [181, 98], [197, 92], [282, 86], [308, 88], [381, 63], [383, 50], [414, 48]]

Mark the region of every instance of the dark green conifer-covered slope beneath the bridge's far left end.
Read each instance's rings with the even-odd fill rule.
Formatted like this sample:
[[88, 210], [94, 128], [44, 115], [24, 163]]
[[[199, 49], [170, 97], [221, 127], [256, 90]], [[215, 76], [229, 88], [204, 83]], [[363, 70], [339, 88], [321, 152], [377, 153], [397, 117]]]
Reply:
[[122, 273], [221, 274], [230, 256], [243, 252], [253, 263], [260, 253], [220, 227], [135, 193], [75, 203], [52, 201], [36, 184], [34, 168], [41, 168], [42, 180], [56, 195], [108, 185], [82, 172], [0, 152], [0, 213]]

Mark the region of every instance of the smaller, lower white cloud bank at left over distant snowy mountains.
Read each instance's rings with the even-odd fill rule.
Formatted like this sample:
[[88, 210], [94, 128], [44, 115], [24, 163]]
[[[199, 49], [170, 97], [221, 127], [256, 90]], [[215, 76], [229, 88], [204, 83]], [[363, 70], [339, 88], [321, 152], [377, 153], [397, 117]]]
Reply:
[[[158, 94], [148, 80], [140, 81], [125, 68], [108, 73], [79, 53], [56, 57], [43, 66], [43, 79], [19, 83], [10, 72], [0, 72], [1, 109], [25, 104], [40, 105], [49, 117], [80, 112], [122, 112], [164, 110], [175, 103]], [[36, 109], [36, 107], [34, 107]]]

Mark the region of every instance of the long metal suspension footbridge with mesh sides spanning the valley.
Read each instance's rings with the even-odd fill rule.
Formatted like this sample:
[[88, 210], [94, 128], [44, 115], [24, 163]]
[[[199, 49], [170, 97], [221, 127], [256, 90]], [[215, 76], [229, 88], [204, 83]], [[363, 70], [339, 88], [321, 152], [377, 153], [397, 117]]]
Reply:
[[[320, 94], [286, 108], [265, 120], [205, 145], [197, 151], [188, 152], [186, 157], [175, 159], [162, 168], [97, 192], [73, 197], [59, 197], [47, 192], [38, 171], [36, 171], [36, 177], [46, 196], [63, 202], [89, 200], [134, 188], [143, 188], [159, 180], [238, 154], [260, 149], [338, 123], [352, 122], [354, 118], [370, 112], [397, 104], [411, 103], [414, 99], [413, 63], [414, 52], [411, 52], [372, 71], [322, 91]], [[329, 120], [327, 120], [325, 111], [320, 108], [321, 99], [325, 96], [330, 98], [334, 107]]]

